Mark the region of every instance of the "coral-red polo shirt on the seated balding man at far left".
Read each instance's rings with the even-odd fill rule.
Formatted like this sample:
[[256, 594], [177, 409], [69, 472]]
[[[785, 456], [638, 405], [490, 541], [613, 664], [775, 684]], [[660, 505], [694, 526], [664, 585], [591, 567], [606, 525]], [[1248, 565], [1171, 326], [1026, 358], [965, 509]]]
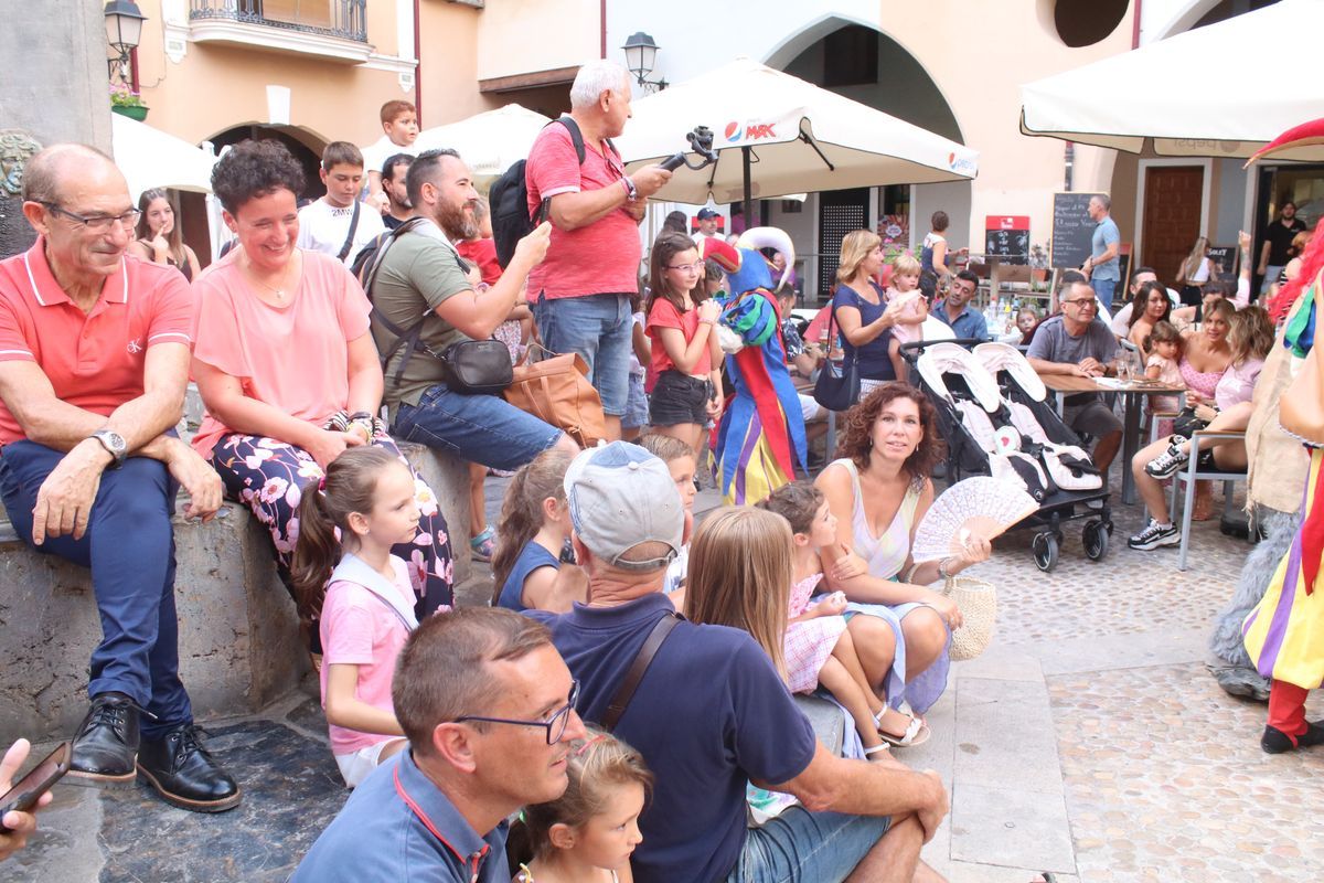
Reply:
[[[45, 240], [0, 261], [0, 361], [34, 361], [56, 397], [110, 416], [143, 395], [147, 351], [193, 346], [195, 298], [172, 266], [122, 257], [85, 314], [46, 263]], [[26, 438], [0, 401], [0, 445]]]

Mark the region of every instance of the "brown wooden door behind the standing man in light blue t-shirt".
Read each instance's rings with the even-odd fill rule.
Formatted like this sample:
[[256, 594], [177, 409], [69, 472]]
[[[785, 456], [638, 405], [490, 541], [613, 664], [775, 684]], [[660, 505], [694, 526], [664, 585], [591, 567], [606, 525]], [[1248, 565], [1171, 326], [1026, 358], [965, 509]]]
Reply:
[[1144, 241], [1140, 244], [1137, 266], [1152, 266], [1160, 282], [1176, 282], [1181, 262], [1190, 254], [1196, 237], [1202, 233], [1200, 216], [1204, 192], [1202, 165], [1145, 168]]

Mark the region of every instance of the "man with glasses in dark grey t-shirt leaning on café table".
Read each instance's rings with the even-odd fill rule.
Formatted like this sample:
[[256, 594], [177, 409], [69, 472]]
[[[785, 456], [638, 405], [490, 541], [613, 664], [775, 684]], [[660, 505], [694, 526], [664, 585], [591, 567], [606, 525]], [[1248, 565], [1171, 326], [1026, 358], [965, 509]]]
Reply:
[[[1062, 312], [1045, 319], [1025, 353], [1041, 375], [1102, 377], [1117, 355], [1117, 339], [1099, 318], [1099, 301], [1088, 282], [1062, 291]], [[1072, 393], [1062, 404], [1062, 420], [1078, 433], [1098, 440], [1094, 463], [1104, 475], [1121, 446], [1121, 421], [1096, 392]]]

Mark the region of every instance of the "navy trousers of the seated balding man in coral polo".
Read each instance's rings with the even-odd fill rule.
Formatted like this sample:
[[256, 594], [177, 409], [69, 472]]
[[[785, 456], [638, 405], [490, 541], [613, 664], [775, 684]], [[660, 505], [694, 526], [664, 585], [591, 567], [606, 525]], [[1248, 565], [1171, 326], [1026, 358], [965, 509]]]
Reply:
[[[64, 457], [32, 441], [0, 451], [0, 498], [24, 543], [32, 544], [37, 491]], [[193, 719], [179, 679], [171, 527], [177, 488], [163, 463], [130, 457], [120, 469], [102, 473], [81, 540], [66, 534], [34, 547], [91, 569], [102, 639], [91, 654], [87, 695], [118, 691], [156, 715], [143, 716], [147, 739]]]

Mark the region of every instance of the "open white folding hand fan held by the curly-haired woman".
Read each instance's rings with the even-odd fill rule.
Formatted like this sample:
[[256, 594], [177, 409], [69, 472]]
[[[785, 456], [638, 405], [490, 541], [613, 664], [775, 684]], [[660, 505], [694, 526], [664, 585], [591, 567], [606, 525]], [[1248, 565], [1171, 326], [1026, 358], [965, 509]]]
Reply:
[[957, 482], [933, 500], [915, 531], [915, 561], [960, 555], [974, 537], [992, 540], [1039, 504], [1019, 487], [977, 475]]

